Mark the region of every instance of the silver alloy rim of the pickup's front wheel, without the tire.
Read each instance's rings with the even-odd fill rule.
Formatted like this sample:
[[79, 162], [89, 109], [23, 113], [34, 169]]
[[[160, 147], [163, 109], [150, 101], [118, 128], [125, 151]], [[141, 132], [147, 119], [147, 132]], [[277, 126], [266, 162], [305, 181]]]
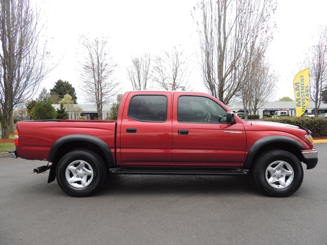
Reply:
[[294, 179], [292, 166], [285, 161], [274, 161], [266, 169], [267, 183], [276, 189], [283, 189], [289, 186]]

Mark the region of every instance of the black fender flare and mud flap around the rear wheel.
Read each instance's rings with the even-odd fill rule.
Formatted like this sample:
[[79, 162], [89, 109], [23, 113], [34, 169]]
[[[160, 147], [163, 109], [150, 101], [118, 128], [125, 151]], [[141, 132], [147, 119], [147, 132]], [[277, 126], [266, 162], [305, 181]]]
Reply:
[[108, 164], [109, 167], [114, 167], [113, 156], [112, 156], [111, 150], [109, 148], [109, 145], [106, 142], [104, 142], [102, 139], [95, 137], [95, 136], [91, 136], [91, 135], [85, 135], [85, 134], [66, 135], [66, 136], [63, 136], [63, 137], [57, 139], [54, 142], [54, 144], [51, 146], [48, 161], [52, 162], [52, 165], [51, 165], [51, 169], [50, 169], [50, 173], [49, 173], [48, 183], [54, 181], [56, 178], [57, 162], [54, 162], [54, 161], [55, 161], [55, 156], [56, 156], [57, 151], [65, 143], [69, 143], [69, 142], [73, 142], [73, 141], [87, 142], [87, 143], [97, 145], [97, 147], [103, 153], [102, 154], [104, 157], [103, 160]]

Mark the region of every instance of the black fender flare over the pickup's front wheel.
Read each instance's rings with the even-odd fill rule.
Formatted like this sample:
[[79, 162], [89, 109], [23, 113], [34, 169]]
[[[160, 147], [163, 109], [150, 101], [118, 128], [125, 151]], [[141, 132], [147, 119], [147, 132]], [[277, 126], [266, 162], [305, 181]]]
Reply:
[[304, 146], [300, 142], [298, 142], [297, 140], [295, 140], [293, 138], [287, 137], [287, 136], [274, 135], [274, 136], [263, 137], [263, 138], [255, 141], [254, 144], [251, 146], [250, 150], [248, 151], [248, 153], [246, 155], [243, 167], [246, 169], [249, 169], [251, 167], [251, 164], [253, 162], [255, 155], [258, 153], [258, 151], [264, 145], [267, 145], [270, 143], [281, 143], [281, 142], [291, 144], [299, 150], [305, 149]]

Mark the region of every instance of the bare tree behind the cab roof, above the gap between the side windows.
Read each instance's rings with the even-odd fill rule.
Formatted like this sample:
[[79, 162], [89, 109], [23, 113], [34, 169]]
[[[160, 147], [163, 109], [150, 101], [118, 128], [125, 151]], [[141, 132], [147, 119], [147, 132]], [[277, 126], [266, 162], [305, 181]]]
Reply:
[[154, 81], [166, 90], [189, 90], [190, 72], [184, 51], [178, 51], [176, 46], [171, 52], [165, 51], [163, 56], [157, 56], [154, 66]]

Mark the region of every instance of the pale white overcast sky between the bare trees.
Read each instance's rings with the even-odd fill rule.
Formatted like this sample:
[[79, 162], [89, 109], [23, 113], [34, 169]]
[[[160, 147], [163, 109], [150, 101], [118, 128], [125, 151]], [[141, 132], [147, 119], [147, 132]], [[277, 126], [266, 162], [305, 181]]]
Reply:
[[[48, 39], [52, 62], [58, 64], [41, 87], [53, 88], [56, 81], [68, 81], [75, 87], [78, 103], [85, 103], [79, 90], [81, 67], [80, 35], [109, 36], [112, 59], [118, 64], [115, 78], [121, 92], [132, 90], [126, 68], [131, 58], [144, 53], [151, 56], [180, 45], [190, 60], [196, 59], [198, 35], [191, 16], [197, 0], [125, 0], [81, 1], [49, 0], [40, 4], [43, 29]], [[267, 51], [271, 70], [278, 81], [275, 99], [294, 99], [293, 79], [300, 71], [305, 53], [315, 44], [319, 25], [327, 24], [327, 2], [321, 0], [278, 0], [276, 30]], [[206, 92], [197, 62], [189, 64], [193, 91]]]

